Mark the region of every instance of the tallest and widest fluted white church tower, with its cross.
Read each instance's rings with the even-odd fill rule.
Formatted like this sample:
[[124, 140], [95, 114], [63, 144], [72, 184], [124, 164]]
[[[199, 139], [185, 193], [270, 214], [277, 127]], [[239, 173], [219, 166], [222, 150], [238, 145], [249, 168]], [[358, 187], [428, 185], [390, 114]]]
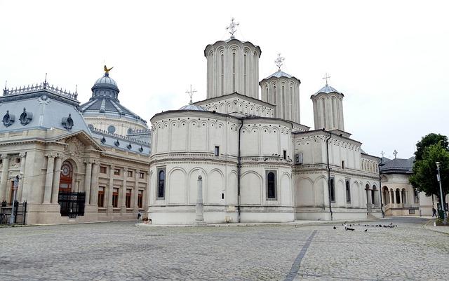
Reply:
[[235, 39], [238, 23], [231, 20], [227, 29], [231, 37], [206, 46], [207, 98], [220, 97], [232, 92], [259, 98], [259, 46]]

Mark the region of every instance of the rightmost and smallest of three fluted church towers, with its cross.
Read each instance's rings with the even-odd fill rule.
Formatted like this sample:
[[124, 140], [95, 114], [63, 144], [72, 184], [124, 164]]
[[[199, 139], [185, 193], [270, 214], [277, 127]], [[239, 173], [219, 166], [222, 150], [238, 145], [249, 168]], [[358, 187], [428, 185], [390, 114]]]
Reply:
[[326, 79], [326, 85], [310, 97], [314, 103], [315, 130], [344, 131], [344, 95], [328, 84], [328, 78], [330, 76], [326, 74], [326, 77], [323, 78]]

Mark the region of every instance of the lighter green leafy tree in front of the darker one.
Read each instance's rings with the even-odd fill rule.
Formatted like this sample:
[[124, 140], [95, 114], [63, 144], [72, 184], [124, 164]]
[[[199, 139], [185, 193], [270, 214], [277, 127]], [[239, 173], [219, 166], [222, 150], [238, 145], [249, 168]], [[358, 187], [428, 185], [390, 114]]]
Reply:
[[441, 187], [443, 198], [445, 198], [445, 195], [449, 192], [449, 151], [441, 145], [441, 142], [424, 149], [422, 160], [415, 160], [413, 174], [409, 181], [415, 189], [426, 193], [426, 196], [434, 194], [440, 198], [440, 186], [436, 179], [436, 174], [438, 174], [436, 162], [441, 163]]

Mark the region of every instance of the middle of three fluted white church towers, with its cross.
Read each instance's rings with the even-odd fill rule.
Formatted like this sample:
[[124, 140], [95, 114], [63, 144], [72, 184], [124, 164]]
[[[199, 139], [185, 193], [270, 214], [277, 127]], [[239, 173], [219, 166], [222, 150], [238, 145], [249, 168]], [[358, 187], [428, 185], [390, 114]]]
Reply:
[[300, 123], [300, 79], [281, 71], [284, 58], [281, 54], [274, 61], [278, 71], [260, 81], [262, 101], [276, 105], [276, 118]]

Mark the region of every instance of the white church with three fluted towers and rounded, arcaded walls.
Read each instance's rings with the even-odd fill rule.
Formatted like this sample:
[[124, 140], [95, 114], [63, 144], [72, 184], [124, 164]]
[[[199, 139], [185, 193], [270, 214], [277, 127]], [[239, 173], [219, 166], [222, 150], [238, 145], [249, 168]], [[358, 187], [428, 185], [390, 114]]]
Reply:
[[[381, 217], [380, 158], [344, 130], [342, 92], [311, 95], [314, 130], [300, 123], [300, 79], [259, 79], [261, 48], [234, 37], [206, 46], [207, 98], [152, 117], [148, 216], [192, 224], [197, 181], [204, 220], [286, 222]], [[303, 94], [304, 95], [304, 94]]]

